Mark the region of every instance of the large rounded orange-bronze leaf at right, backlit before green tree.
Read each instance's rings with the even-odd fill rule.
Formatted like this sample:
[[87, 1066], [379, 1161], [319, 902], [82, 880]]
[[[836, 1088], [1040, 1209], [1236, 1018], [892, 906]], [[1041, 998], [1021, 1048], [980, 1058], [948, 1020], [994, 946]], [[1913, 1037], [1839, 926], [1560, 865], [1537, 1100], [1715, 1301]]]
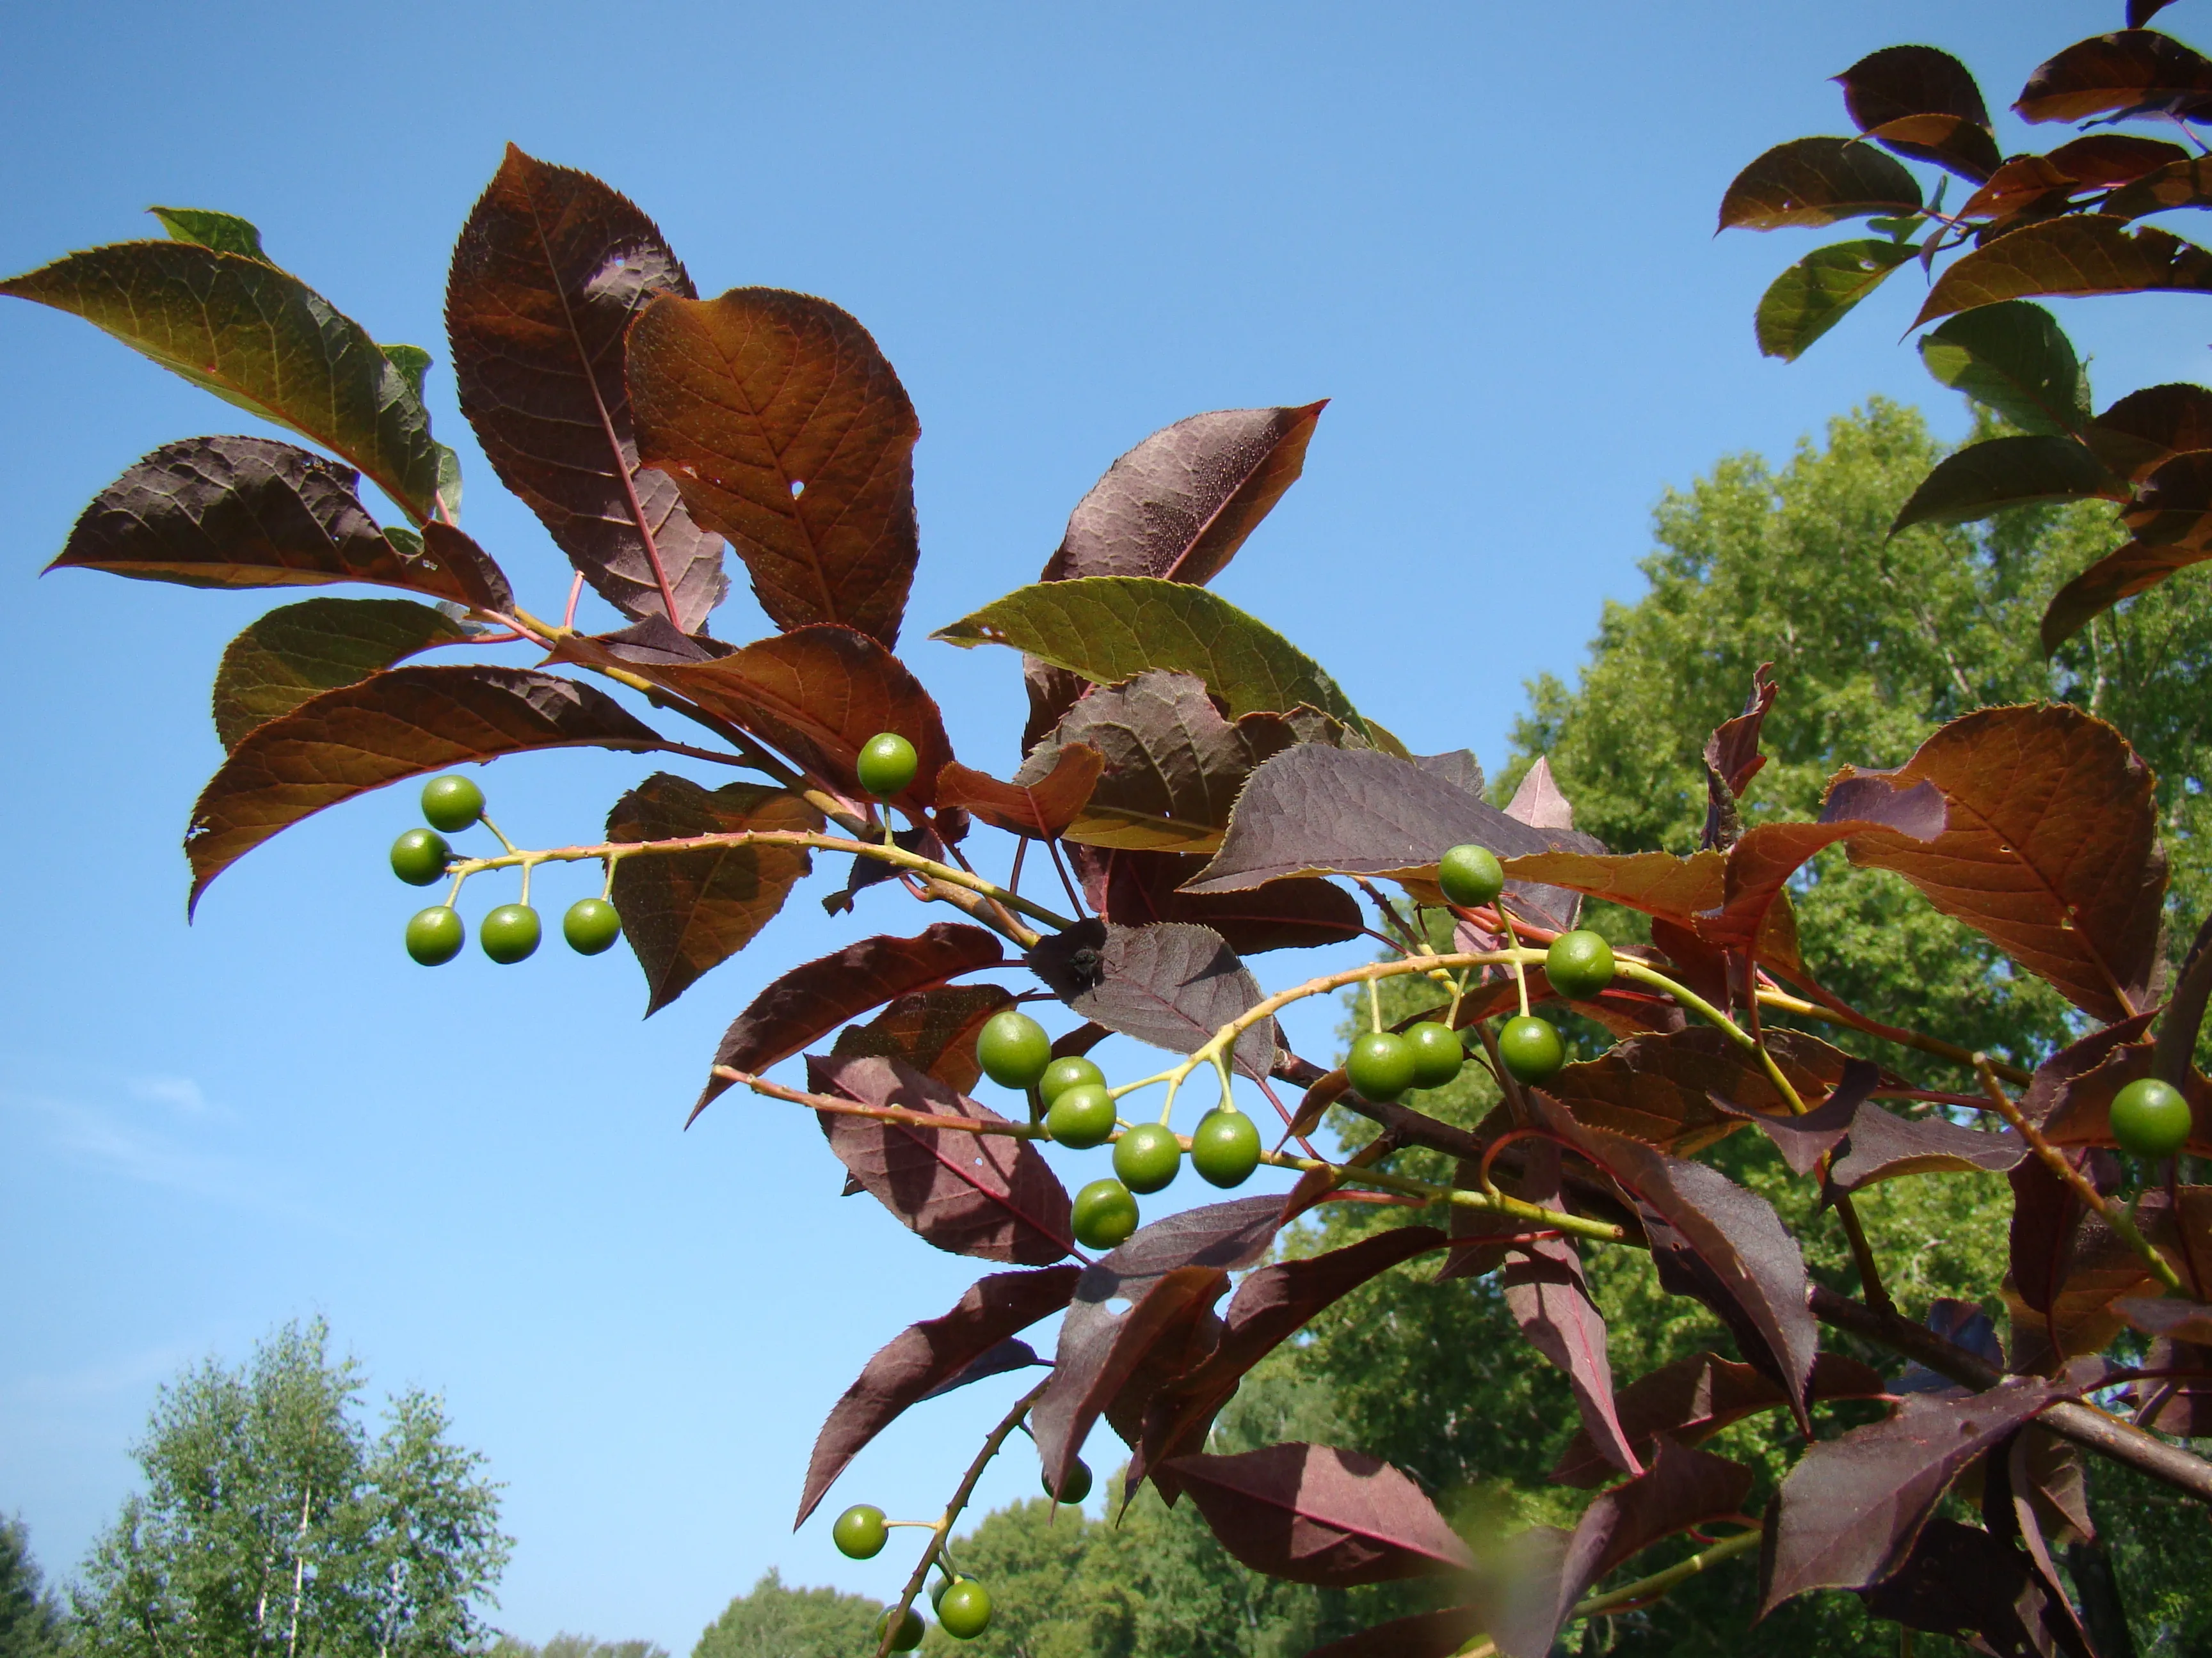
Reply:
[[1938, 730], [1896, 772], [1929, 780], [1949, 827], [1929, 842], [1863, 838], [1851, 860], [1905, 875], [2095, 1019], [2150, 1004], [2166, 895], [2150, 767], [2064, 703], [1986, 707]]

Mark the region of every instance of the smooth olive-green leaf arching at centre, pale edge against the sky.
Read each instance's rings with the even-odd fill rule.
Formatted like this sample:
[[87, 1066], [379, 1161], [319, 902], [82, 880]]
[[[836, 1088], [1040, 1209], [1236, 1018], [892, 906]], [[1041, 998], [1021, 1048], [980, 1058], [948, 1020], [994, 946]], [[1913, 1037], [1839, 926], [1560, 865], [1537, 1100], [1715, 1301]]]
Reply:
[[1166, 668], [1194, 674], [1243, 714], [1316, 707], [1369, 732], [1312, 657], [1219, 595], [1188, 581], [1095, 575], [1040, 581], [940, 628], [956, 646], [1013, 646], [1097, 685]]

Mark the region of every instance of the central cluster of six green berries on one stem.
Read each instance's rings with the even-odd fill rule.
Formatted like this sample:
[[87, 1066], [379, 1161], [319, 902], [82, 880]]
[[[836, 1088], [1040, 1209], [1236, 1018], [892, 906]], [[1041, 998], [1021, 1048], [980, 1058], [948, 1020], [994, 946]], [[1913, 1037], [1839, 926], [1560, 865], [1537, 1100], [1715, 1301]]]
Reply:
[[[1035, 1090], [1044, 1127], [1071, 1150], [1115, 1141], [1117, 1114], [1106, 1072], [1079, 1054], [1053, 1059], [1053, 1039], [1026, 1012], [991, 1015], [975, 1037], [975, 1063], [1000, 1088]], [[1243, 1185], [1259, 1167], [1259, 1125], [1230, 1103], [1199, 1119], [1190, 1167], [1219, 1185]], [[1113, 1176], [1075, 1194], [1075, 1240], [1113, 1249], [1137, 1229], [1137, 1194], [1164, 1189], [1183, 1167], [1183, 1145], [1166, 1123], [1137, 1123], [1113, 1145]]]

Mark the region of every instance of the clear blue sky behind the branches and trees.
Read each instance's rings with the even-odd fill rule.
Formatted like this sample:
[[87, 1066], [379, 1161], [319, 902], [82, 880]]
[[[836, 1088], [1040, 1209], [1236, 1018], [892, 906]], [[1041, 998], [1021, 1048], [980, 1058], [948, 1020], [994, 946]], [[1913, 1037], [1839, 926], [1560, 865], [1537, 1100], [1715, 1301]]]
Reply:
[[[1495, 765], [1522, 683], [1573, 674], [1601, 599], [1637, 595], [1661, 489], [1783, 455], [1869, 391], [1962, 427], [1896, 345], [1909, 276], [1805, 363], [1756, 356], [1752, 303], [1816, 237], [1714, 241], [1732, 172], [1843, 130], [1823, 77], [1874, 46], [1960, 51], [2002, 106], [2112, 27], [2119, 0], [18, 4], [0, 267], [155, 234], [146, 203], [226, 208], [442, 358], [447, 252], [500, 146], [602, 175], [703, 292], [827, 294], [898, 365], [925, 429], [907, 657], [1002, 774], [1015, 661], [929, 628], [1031, 579], [1148, 431], [1327, 396], [1305, 480], [1219, 586], [1416, 749]], [[2002, 137], [2053, 141], [2011, 117]], [[2101, 385], [2201, 378], [2183, 303], [2070, 307]], [[131, 1486], [157, 1382], [323, 1313], [378, 1384], [442, 1388], [507, 1481], [498, 1620], [522, 1636], [681, 1654], [770, 1565], [887, 1592], [911, 1556], [847, 1563], [827, 1514], [933, 1512], [1013, 1384], [914, 1413], [794, 1536], [799, 1475], [867, 1355], [975, 1267], [841, 1200], [794, 1110], [728, 1096], [677, 1132], [737, 1008], [856, 928], [801, 891], [650, 1024], [626, 955], [425, 973], [398, 944], [420, 900], [383, 871], [409, 791], [281, 838], [186, 928], [206, 683], [274, 599], [35, 573], [139, 453], [246, 427], [29, 305], [0, 307], [0, 1510], [66, 1572]], [[553, 610], [566, 570], [442, 363], [431, 405], [469, 528]], [[717, 628], [761, 621], [741, 597]], [[557, 844], [644, 769], [535, 756], [487, 785], [511, 833]], [[880, 895], [860, 917], [920, 920]], [[1033, 1490], [1011, 1455], [980, 1497]]]

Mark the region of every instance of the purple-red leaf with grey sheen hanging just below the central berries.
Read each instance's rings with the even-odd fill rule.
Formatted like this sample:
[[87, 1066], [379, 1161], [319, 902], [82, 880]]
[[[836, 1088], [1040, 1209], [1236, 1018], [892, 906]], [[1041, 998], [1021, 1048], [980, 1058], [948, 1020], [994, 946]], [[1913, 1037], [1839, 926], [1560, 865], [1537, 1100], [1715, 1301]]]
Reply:
[[[1037, 1457], [1053, 1490], [1066, 1481], [1084, 1437], [1137, 1366], [1161, 1342], [1186, 1337], [1212, 1318], [1228, 1276], [1267, 1253], [1281, 1220], [1281, 1198], [1210, 1203], [1139, 1227], [1128, 1242], [1084, 1269], [1060, 1324], [1053, 1386], [1031, 1413]], [[1141, 1324], [1133, 1324], [1135, 1309], [1170, 1278], [1175, 1287], [1159, 1295]], [[1117, 1311], [1115, 1302], [1126, 1302], [1130, 1311]], [[1219, 1320], [1208, 1329], [1217, 1326]], [[1199, 1357], [1192, 1353], [1192, 1364]]]

